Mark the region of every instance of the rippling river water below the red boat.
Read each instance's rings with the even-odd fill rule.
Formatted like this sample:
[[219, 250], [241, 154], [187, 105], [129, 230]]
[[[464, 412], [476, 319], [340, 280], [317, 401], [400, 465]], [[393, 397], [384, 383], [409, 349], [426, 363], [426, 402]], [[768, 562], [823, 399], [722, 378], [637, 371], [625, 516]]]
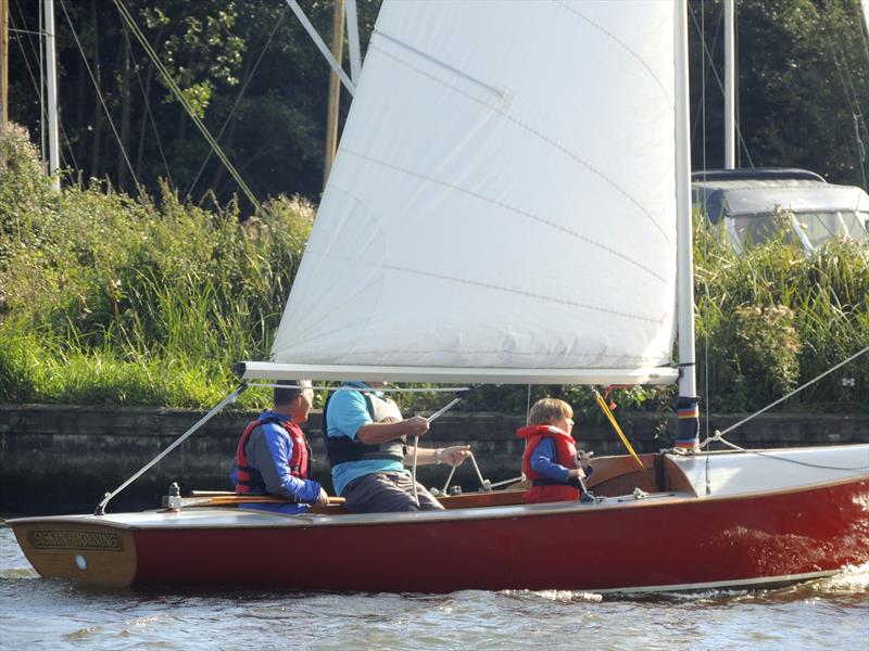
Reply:
[[[314, 550], [304, 557], [318, 561]], [[419, 562], [449, 571], [449, 559]], [[410, 567], [410, 558], [401, 564]], [[619, 651], [867, 650], [869, 564], [779, 590], [642, 598], [521, 590], [109, 592], [39, 578], [12, 531], [0, 526], [0, 649], [421, 651], [529, 642]]]

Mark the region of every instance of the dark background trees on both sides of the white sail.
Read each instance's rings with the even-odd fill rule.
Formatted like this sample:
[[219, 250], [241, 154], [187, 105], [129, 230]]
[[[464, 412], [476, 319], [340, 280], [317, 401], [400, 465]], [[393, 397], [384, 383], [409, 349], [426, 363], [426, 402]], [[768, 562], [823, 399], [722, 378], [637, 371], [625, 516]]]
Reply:
[[[328, 41], [332, 0], [300, 4]], [[358, 2], [363, 47], [379, 5]], [[13, 29], [38, 28], [42, 3], [11, 0], [10, 7]], [[261, 201], [281, 193], [317, 199], [329, 68], [286, 2], [124, 0], [123, 7]], [[859, 182], [854, 115], [869, 106], [869, 46], [858, 0], [739, 0], [736, 7], [741, 164], [802, 166]], [[67, 169], [131, 192], [137, 182], [155, 192], [165, 179], [197, 202], [225, 203], [238, 193], [116, 3], [64, 0], [58, 8]], [[720, 167], [721, 0], [690, 0], [690, 9], [694, 167]], [[40, 140], [39, 43], [24, 31], [12, 37], [11, 117]], [[345, 114], [347, 93], [342, 101]], [[858, 127], [869, 142], [865, 115]]]

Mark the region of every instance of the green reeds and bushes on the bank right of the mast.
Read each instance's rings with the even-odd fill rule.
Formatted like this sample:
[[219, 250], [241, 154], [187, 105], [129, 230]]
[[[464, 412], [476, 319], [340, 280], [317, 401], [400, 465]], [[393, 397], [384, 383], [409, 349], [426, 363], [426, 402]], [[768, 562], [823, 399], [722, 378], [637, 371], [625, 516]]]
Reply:
[[[695, 222], [698, 381], [707, 408], [757, 409], [869, 346], [869, 248], [832, 242], [806, 255], [780, 241], [742, 255]], [[869, 409], [869, 355], [791, 405]]]

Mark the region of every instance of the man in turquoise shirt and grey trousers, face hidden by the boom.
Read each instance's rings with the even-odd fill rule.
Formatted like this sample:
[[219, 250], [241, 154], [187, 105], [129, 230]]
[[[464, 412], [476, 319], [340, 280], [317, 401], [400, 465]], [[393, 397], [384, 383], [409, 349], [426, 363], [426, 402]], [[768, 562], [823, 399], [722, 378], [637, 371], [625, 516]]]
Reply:
[[[407, 438], [428, 432], [428, 421], [419, 416], [402, 419], [398, 405], [378, 388], [385, 382], [348, 382], [336, 391], [323, 409], [323, 438], [336, 494], [345, 498], [344, 507], [356, 513], [428, 511], [441, 503], [414, 483], [404, 468], [413, 462]], [[470, 448], [456, 445], [443, 449], [417, 449], [417, 464], [461, 465]]]

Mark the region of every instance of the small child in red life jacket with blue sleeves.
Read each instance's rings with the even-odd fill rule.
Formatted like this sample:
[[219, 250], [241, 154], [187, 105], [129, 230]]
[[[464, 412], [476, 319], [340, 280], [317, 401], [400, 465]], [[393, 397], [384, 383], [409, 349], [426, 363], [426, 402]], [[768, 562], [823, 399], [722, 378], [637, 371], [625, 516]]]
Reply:
[[572, 417], [574, 410], [564, 400], [543, 398], [531, 407], [528, 425], [516, 432], [526, 442], [522, 472], [531, 482], [525, 492], [526, 503], [580, 499], [580, 478], [585, 472], [579, 467], [570, 435]]

